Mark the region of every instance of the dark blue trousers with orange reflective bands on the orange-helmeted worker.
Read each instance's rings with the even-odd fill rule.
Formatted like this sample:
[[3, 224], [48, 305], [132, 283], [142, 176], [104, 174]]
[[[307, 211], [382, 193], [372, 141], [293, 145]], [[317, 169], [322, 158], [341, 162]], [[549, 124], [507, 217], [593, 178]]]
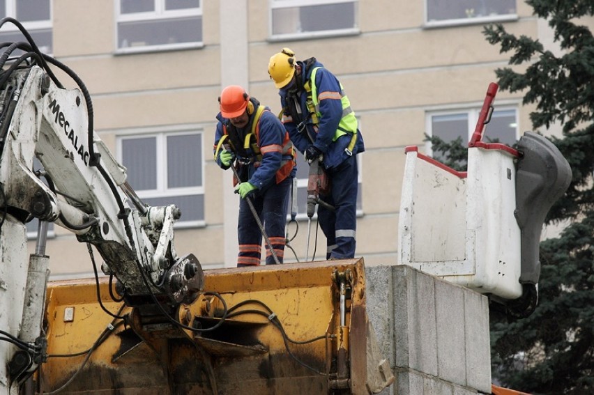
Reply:
[[[287, 223], [287, 208], [289, 204], [289, 191], [292, 183], [291, 177], [287, 177], [279, 184], [273, 184], [257, 191], [239, 203], [239, 219], [237, 226], [237, 238], [239, 241], [239, 254], [237, 266], [259, 265], [262, 250], [262, 233], [250, 210], [247, 199], [252, 199], [254, 209], [264, 224], [264, 231], [270, 240], [278, 261], [282, 263], [284, 254], [284, 226]], [[275, 264], [273, 255], [268, 245], [266, 247], [266, 265]]]

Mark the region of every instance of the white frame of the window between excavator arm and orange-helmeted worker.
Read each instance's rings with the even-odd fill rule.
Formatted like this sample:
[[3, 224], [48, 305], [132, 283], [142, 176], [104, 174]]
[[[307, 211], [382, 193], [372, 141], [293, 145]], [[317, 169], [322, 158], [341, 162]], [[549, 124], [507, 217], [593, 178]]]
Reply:
[[[172, 136], [185, 136], [197, 134], [200, 138], [200, 144], [202, 152], [204, 153], [204, 129], [201, 127], [188, 127], [175, 130], [152, 130], [144, 132], [134, 133], [117, 133], [116, 134], [116, 157], [119, 163], [123, 163], [123, 150], [122, 141], [126, 139], [143, 139], [143, 138], [155, 138], [156, 144], [156, 157], [157, 162], [157, 173], [156, 177], [156, 188], [155, 189], [142, 189], [135, 192], [141, 200], [146, 199], [162, 199], [167, 197], [175, 196], [190, 196], [190, 195], [201, 195], [205, 194], [205, 176], [206, 176], [206, 160], [204, 155], [201, 161], [201, 180], [202, 184], [197, 187], [175, 187], [167, 188], [167, 137]], [[203, 210], [204, 211], [204, 210]], [[206, 212], [204, 212], [204, 219], [188, 220], [184, 221], [179, 219], [175, 224], [175, 228], [195, 228], [199, 226], [206, 226]], [[182, 217], [183, 218], [183, 217]]]

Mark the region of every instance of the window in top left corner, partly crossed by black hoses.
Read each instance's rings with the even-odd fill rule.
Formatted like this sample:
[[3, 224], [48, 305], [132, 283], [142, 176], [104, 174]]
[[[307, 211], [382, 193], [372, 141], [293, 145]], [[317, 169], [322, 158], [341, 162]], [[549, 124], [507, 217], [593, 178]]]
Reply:
[[[44, 54], [51, 54], [52, 7], [50, 0], [0, 0], [0, 18], [13, 17], [29, 31], [31, 38]], [[26, 42], [26, 38], [14, 24], [7, 22], [0, 31], [2, 42]]]

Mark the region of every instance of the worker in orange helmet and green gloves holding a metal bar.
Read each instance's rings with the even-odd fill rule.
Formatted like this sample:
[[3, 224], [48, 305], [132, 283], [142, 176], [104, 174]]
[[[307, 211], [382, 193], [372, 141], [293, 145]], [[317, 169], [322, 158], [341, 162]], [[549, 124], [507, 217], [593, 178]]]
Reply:
[[266, 245], [266, 264], [276, 263], [275, 256], [282, 263], [289, 189], [296, 174], [293, 144], [277, 116], [241, 86], [224, 88], [219, 103], [215, 160], [224, 170], [235, 166], [239, 178], [234, 176], [241, 197], [237, 266], [259, 265], [261, 260], [262, 232], [247, 199], [271, 243]]

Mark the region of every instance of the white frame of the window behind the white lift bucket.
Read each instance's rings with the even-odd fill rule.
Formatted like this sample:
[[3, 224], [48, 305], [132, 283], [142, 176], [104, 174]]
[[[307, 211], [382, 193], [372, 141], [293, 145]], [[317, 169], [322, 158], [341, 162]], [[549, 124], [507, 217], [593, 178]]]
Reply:
[[[478, 116], [480, 114], [480, 109], [482, 105], [476, 104], [474, 106], [457, 106], [457, 107], [447, 107], [441, 109], [427, 109], [425, 111], [425, 130], [427, 131], [427, 135], [429, 137], [433, 137], [433, 127], [432, 127], [432, 117], [433, 116], [447, 116], [447, 115], [454, 115], [454, 114], [468, 114], [468, 140], [471, 140], [472, 134], [474, 133], [476, 123], [478, 121]], [[508, 102], [505, 104], [498, 104], [494, 107], [494, 112], [498, 111], [514, 111], [515, 115], [515, 140], [519, 139], [519, 107], [517, 103]], [[496, 136], [489, 135], [489, 124], [485, 125], [485, 130], [483, 130], [483, 135], [487, 132], [487, 137], [496, 138]], [[425, 152], [429, 156], [433, 156], [433, 146], [431, 141], [425, 141]]]

